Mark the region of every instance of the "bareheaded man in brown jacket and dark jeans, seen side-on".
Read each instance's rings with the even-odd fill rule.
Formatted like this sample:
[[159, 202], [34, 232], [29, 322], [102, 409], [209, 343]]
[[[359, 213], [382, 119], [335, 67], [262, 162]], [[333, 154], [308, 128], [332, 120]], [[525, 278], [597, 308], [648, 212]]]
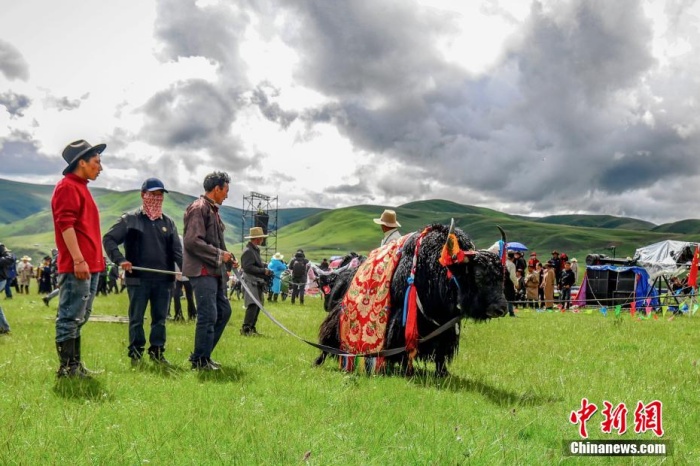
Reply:
[[231, 318], [231, 304], [226, 298], [228, 267], [238, 267], [236, 258], [226, 250], [224, 222], [219, 205], [228, 197], [231, 178], [224, 172], [213, 172], [204, 178], [204, 195], [185, 211], [182, 274], [192, 282], [197, 303], [197, 326], [194, 351], [190, 355], [192, 369], [213, 371], [219, 363], [211, 353]]

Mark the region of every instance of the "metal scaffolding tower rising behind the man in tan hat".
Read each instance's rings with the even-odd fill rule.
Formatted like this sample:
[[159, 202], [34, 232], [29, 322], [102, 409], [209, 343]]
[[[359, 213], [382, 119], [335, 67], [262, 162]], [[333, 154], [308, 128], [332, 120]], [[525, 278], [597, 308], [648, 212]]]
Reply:
[[253, 191], [248, 196], [243, 196], [241, 249], [248, 244], [245, 236], [248, 236], [250, 229], [262, 227], [265, 234], [269, 235], [260, 245], [260, 256], [265, 263], [277, 251], [277, 207], [277, 196], [266, 196]]

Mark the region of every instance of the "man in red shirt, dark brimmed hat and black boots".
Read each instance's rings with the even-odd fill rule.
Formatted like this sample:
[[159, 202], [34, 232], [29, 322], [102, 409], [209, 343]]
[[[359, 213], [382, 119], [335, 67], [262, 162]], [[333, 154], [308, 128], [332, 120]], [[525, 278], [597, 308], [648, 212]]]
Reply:
[[58, 377], [90, 376], [81, 361], [80, 329], [90, 318], [105, 263], [100, 215], [87, 184], [102, 171], [100, 154], [105, 147], [82, 139], [68, 144], [62, 154], [68, 166], [51, 197], [61, 290], [56, 318]]

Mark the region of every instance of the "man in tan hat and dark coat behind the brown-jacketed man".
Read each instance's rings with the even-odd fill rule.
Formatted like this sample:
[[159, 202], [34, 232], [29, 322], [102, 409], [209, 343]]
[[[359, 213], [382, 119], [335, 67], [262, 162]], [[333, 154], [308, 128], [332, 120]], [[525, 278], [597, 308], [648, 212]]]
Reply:
[[255, 324], [258, 322], [260, 306], [255, 300], [260, 304], [263, 303], [265, 290], [267, 289], [267, 277], [273, 275], [272, 270], [265, 266], [260, 257], [260, 245], [267, 236], [261, 227], [253, 227], [250, 229], [250, 234], [245, 237], [250, 241], [243, 250], [243, 254], [241, 254], [241, 268], [244, 274], [243, 280], [252, 295], [246, 291], [244, 297], [246, 308], [243, 326], [241, 327], [241, 335], [243, 336], [259, 335]]

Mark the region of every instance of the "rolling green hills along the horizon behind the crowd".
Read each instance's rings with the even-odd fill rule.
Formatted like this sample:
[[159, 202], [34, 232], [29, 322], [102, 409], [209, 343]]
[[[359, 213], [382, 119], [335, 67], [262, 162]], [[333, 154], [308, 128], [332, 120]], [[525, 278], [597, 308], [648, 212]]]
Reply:
[[[138, 190], [112, 191], [92, 188], [100, 209], [103, 231], [126, 211], [140, 206]], [[0, 179], [0, 241], [15, 252], [36, 256], [53, 247], [53, 222], [50, 198], [53, 186], [32, 185]], [[195, 196], [170, 192], [164, 212], [171, 216], [182, 233], [182, 215]], [[221, 208], [227, 226], [226, 241], [232, 251], [242, 247], [243, 210], [230, 207], [229, 199]], [[287, 258], [301, 248], [312, 260], [350, 251], [367, 253], [379, 245], [381, 231], [372, 222], [385, 206], [359, 205], [338, 209], [279, 209], [276, 246]], [[401, 231], [417, 231], [430, 223], [449, 223], [454, 218], [478, 248], [487, 248], [499, 239], [496, 225], [503, 227], [510, 240], [537, 251], [540, 259], [549, 258], [552, 249], [566, 251], [570, 257], [589, 253], [609, 254], [615, 246], [618, 256], [631, 256], [638, 247], [664, 239], [697, 241], [700, 220], [655, 225], [639, 219], [610, 215], [551, 215], [541, 218], [511, 215], [485, 207], [462, 205], [447, 200], [414, 201], [395, 207]], [[265, 251], [270, 252], [270, 251]], [[274, 252], [274, 251], [271, 251]]]

